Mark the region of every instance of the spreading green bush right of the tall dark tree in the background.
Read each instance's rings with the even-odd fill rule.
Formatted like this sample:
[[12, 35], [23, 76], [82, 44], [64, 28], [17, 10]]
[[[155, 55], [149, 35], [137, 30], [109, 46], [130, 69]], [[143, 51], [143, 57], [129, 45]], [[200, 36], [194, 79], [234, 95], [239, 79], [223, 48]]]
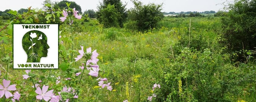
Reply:
[[[142, 5], [140, 1], [133, 1], [135, 5], [134, 8], [131, 8], [128, 13], [128, 21], [127, 23], [135, 24], [137, 30], [144, 31], [148, 29], [153, 29], [156, 27], [157, 23], [164, 17], [162, 10], [162, 4], [147, 4]], [[130, 24], [126, 24], [130, 25]]]

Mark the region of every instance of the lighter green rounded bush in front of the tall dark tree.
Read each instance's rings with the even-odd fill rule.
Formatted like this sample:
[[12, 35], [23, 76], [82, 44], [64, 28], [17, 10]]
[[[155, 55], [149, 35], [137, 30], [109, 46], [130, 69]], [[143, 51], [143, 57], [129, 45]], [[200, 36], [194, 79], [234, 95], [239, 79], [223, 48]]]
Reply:
[[101, 15], [98, 20], [104, 27], [120, 27], [118, 19], [121, 18], [121, 15], [114, 5], [108, 4], [107, 7], [101, 9], [98, 14]]

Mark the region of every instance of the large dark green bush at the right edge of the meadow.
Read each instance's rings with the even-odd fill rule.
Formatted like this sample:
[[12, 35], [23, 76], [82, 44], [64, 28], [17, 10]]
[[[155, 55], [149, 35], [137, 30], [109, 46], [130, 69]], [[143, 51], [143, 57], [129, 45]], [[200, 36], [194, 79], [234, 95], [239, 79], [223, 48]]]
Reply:
[[230, 4], [222, 18], [224, 38], [230, 51], [252, 50], [256, 46], [256, 0], [238, 0]]

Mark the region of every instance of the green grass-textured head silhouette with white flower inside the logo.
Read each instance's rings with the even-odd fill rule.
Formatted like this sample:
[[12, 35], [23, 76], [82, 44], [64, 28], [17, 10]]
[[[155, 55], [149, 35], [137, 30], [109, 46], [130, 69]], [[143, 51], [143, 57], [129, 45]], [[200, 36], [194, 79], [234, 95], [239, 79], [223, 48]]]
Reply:
[[47, 57], [50, 47], [47, 37], [43, 32], [32, 30], [22, 38], [22, 47], [27, 54], [27, 62], [40, 62], [42, 57]]

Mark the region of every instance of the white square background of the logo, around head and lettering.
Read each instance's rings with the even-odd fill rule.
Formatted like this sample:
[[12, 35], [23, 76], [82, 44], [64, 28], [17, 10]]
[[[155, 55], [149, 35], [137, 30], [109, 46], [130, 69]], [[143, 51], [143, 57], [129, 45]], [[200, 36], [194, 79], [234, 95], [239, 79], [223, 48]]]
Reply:
[[[22, 25], [50, 25], [49, 29], [26, 29]], [[42, 57], [40, 63], [27, 63], [27, 54], [22, 47], [23, 36], [31, 31], [38, 30], [43, 32], [47, 37], [47, 44], [50, 46], [48, 49], [47, 57]], [[40, 35], [37, 35], [40, 36]], [[33, 67], [33, 64], [54, 64], [54, 67], [46, 68], [58, 68], [58, 24], [14, 24], [13, 25], [13, 68], [44, 68]], [[42, 45], [43, 46], [43, 45]], [[18, 67], [18, 64], [32, 64], [32, 67]], [[45, 68], [44, 68], [45, 69]]]

